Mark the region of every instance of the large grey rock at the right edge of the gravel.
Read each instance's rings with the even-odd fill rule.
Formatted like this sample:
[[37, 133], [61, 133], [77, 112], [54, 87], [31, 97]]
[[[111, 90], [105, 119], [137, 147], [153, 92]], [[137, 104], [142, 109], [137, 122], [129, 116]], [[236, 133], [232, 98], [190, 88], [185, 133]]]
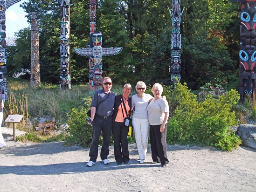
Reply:
[[242, 140], [242, 145], [256, 149], [256, 125], [241, 124], [237, 128], [236, 135]]

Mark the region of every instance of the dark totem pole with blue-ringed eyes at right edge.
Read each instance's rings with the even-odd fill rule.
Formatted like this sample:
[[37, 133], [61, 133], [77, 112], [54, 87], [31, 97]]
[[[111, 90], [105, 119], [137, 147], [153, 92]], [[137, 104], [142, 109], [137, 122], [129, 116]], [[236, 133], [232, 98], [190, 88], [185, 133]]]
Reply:
[[243, 102], [246, 95], [256, 94], [256, 0], [229, 0], [241, 3], [239, 94]]

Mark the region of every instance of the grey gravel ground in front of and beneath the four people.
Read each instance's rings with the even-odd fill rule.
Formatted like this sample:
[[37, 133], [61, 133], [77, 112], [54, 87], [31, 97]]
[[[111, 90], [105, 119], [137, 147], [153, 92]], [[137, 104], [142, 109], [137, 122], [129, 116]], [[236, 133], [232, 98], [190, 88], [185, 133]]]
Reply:
[[[10, 137], [9, 137], [10, 138]], [[169, 165], [151, 164], [149, 150], [139, 164], [136, 144], [129, 164], [110, 165], [100, 158], [86, 167], [89, 148], [64, 142], [21, 143], [7, 140], [0, 149], [0, 192], [255, 192], [256, 150], [233, 152], [207, 147], [168, 145]], [[99, 148], [100, 150], [100, 148]]]

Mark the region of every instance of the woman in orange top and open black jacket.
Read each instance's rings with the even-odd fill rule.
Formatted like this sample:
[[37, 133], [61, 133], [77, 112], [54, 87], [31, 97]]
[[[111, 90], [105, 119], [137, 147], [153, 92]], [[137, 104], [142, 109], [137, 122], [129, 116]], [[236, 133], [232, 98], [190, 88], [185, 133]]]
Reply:
[[[128, 151], [128, 127], [125, 126], [125, 117], [131, 117], [131, 84], [126, 83], [123, 87], [123, 94], [115, 97], [115, 105], [113, 112], [112, 132], [114, 138], [114, 155], [118, 165], [129, 163]], [[124, 105], [125, 103], [125, 105]], [[127, 115], [126, 115], [126, 112]]]

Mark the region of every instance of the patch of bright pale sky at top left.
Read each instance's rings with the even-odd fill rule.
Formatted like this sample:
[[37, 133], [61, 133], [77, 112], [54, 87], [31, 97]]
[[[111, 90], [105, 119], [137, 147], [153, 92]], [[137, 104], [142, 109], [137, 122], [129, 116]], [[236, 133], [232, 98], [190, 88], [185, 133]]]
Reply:
[[23, 8], [20, 5], [28, 0], [21, 0], [18, 3], [15, 3], [11, 7], [7, 8], [6, 14], [6, 36], [14, 37], [14, 33], [18, 32], [18, 30], [23, 29], [29, 26], [27, 22], [27, 18], [25, 18], [26, 13], [24, 12]]

